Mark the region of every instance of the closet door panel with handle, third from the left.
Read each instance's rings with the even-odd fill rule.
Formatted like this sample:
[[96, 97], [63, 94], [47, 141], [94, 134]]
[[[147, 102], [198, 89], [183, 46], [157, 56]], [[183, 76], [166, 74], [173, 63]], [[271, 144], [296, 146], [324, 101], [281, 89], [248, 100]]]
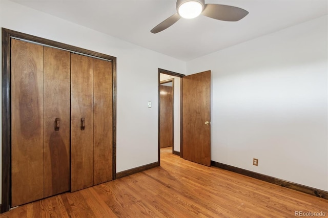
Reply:
[[93, 58], [71, 54], [71, 191], [92, 185]]

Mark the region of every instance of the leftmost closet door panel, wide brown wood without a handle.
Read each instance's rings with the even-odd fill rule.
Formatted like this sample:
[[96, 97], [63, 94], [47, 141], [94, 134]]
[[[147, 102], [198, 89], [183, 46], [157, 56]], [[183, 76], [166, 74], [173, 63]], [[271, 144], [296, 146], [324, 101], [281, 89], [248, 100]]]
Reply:
[[11, 39], [11, 207], [44, 197], [43, 53]]

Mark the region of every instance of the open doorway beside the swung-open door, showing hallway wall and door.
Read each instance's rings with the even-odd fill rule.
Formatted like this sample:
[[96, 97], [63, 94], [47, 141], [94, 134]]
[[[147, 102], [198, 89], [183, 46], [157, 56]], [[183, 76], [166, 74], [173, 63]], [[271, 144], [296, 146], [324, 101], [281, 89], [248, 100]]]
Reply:
[[158, 69], [158, 160], [160, 148], [181, 157], [181, 87], [183, 74]]

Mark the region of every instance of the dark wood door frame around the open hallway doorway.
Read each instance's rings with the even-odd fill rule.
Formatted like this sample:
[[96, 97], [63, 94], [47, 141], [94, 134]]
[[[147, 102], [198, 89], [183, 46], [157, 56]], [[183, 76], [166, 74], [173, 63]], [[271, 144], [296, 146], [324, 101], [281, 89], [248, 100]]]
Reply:
[[[168, 71], [164, 69], [158, 68], [158, 163], [160, 165], [160, 93], [159, 93], [159, 88], [160, 88], [160, 74], [167, 74], [170, 76], [176, 76], [180, 77], [180, 136], [182, 134], [182, 129], [181, 129], [181, 124], [182, 124], [182, 111], [181, 111], [181, 106], [182, 106], [182, 77], [186, 76], [185, 74], [180, 74], [176, 73], [173, 71]], [[174, 93], [174, 91], [173, 91]], [[173, 97], [174, 98], [174, 97]], [[174, 103], [173, 103], [174, 104]], [[174, 113], [173, 113], [174, 117]], [[173, 120], [173, 125], [174, 125], [174, 120]], [[173, 139], [174, 139], [174, 133], [173, 133]], [[182, 137], [180, 137], [180, 157], [182, 157]], [[174, 141], [173, 141], [173, 146], [172, 146], [172, 153], [174, 154]]]

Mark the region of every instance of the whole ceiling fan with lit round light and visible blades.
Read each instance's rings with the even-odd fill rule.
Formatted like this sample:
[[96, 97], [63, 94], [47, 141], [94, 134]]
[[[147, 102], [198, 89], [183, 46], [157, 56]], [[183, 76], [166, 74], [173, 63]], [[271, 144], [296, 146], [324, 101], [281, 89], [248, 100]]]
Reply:
[[177, 13], [173, 14], [150, 32], [158, 33], [176, 23], [181, 17], [194, 18], [202, 14], [213, 19], [238, 21], [248, 14], [248, 11], [229, 5], [205, 4], [204, 0], [177, 0]]

